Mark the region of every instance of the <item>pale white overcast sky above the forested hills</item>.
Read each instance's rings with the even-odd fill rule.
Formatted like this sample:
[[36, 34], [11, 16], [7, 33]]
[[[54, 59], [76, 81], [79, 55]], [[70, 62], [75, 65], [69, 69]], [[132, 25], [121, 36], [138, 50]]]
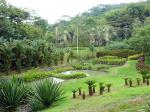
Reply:
[[7, 0], [8, 3], [14, 6], [34, 10], [37, 16], [47, 19], [50, 24], [55, 23], [63, 15], [73, 17], [99, 4], [118, 4], [138, 1], [142, 0]]

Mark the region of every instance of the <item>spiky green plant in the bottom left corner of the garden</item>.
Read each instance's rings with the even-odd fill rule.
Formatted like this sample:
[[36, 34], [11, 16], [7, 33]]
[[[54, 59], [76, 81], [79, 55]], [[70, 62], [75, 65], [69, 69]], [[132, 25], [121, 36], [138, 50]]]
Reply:
[[1, 82], [0, 107], [5, 111], [15, 111], [28, 101], [30, 88], [20, 78], [12, 77]]

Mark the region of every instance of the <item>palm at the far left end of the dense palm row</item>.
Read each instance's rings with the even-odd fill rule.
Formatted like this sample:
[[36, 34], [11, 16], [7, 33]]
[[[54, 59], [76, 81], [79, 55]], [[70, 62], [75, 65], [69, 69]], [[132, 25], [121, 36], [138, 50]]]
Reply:
[[8, 75], [12, 62], [12, 47], [10, 43], [4, 43], [0, 45], [0, 57], [1, 60], [4, 62], [3, 67], [6, 74]]

